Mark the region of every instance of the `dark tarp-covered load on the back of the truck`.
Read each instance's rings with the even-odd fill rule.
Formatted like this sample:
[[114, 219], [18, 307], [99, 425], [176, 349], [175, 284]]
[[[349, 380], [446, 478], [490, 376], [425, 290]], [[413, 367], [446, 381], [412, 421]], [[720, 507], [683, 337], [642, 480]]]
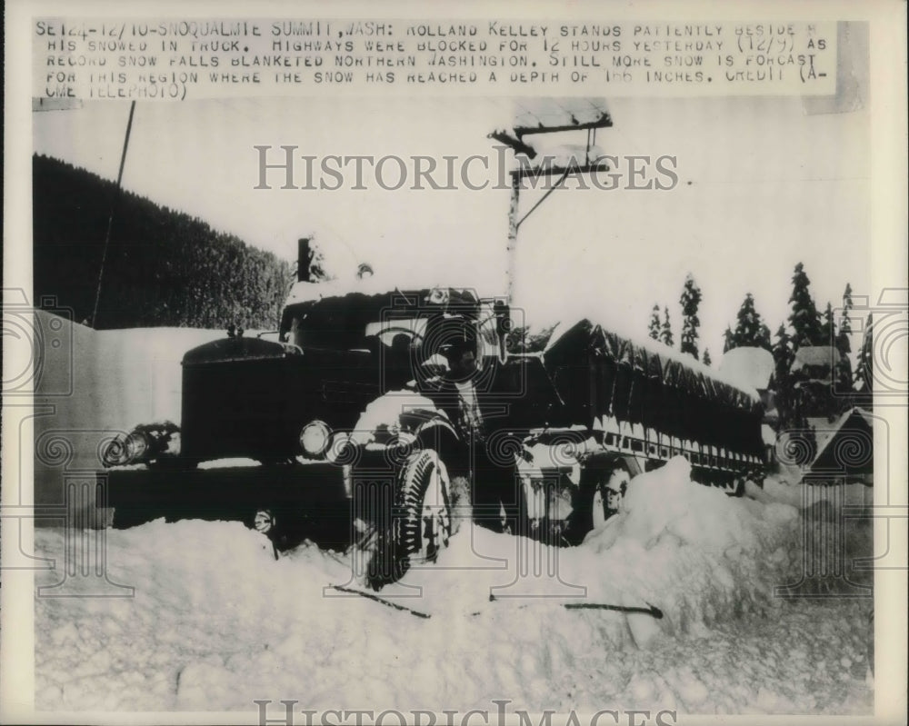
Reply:
[[593, 426], [612, 417], [679, 439], [760, 454], [763, 410], [756, 392], [687, 357], [584, 319], [553, 339], [544, 363], [578, 423]]

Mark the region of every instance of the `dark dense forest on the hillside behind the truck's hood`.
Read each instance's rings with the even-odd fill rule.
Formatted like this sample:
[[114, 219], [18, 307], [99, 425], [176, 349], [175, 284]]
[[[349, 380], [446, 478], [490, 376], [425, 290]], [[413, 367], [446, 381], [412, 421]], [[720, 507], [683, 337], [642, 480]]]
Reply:
[[56, 159], [35, 155], [35, 300], [55, 299], [92, 323], [105, 234], [97, 329], [145, 326], [275, 328], [291, 265]]

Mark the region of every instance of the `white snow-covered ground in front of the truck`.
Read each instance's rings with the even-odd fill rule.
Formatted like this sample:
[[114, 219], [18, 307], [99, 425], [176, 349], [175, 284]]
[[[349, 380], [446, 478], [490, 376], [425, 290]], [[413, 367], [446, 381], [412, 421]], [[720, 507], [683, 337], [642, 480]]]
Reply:
[[[350, 555], [306, 543], [275, 560], [238, 522], [107, 531], [107, 576], [135, 596], [36, 599], [35, 707], [870, 713], [871, 599], [774, 597], [804, 570], [799, 502], [814, 498], [773, 480], [749, 492], [694, 484], [674, 460], [636, 478], [624, 511], [576, 548], [465, 522], [440, 562], [379, 593], [428, 618], [325, 590], [356, 586]], [[864, 498], [850, 487], [845, 501]], [[847, 556], [870, 552], [867, 522], [844, 535]], [[43, 529], [35, 542], [59, 563], [36, 584], [60, 582], [73, 541]], [[566, 607], [579, 604], [664, 617]]]

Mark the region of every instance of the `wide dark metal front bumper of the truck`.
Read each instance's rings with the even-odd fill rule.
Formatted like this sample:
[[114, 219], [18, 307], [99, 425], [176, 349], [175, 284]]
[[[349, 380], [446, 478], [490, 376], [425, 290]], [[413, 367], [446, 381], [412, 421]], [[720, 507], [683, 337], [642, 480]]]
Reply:
[[330, 463], [212, 469], [108, 469], [96, 475], [96, 505], [114, 508], [114, 527], [164, 518], [227, 520], [252, 526], [255, 512], [275, 512], [273, 539], [343, 544], [350, 538], [345, 470]]

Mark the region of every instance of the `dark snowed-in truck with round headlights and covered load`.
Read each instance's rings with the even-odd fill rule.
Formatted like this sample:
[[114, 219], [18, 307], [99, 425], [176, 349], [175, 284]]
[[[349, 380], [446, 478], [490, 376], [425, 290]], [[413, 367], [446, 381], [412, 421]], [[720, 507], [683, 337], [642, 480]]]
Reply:
[[276, 340], [233, 330], [185, 353], [180, 426], [106, 453], [114, 525], [242, 519], [276, 552], [358, 544], [388, 582], [435, 560], [458, 516], [572, 544], [673, 456], [728, 492], [762, 467], [756, 394], [658, 343], [582, 320], [508, 355], [503, 298], [355, 288], [301, 279]]

